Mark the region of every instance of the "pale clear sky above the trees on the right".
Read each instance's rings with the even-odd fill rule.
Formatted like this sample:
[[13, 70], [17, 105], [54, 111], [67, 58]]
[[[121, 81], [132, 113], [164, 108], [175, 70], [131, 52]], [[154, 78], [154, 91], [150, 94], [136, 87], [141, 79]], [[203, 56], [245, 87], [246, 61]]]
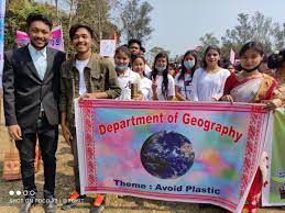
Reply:
[[260, 11], [273, 22], [285, 22], [284, 0], [147, 0], [154, 8], [146, 51], [160, 46], [171, 56], [183, 55], [199, 45], [199, 37], [213, 33], [220, 40], [238, 24], [238, 13]]

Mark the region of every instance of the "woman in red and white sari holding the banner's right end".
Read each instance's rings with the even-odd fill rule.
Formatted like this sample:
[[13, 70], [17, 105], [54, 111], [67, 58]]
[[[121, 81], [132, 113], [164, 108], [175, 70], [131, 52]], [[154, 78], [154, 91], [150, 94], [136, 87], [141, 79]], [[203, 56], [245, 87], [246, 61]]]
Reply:
[[[259, 71], [263, 56], [263, 47], [260, 43], [249, 42], [241, 48], [241, 71], [239, 74], [232, 72], [227, 79], [222, 101], [266, 103], [267, 109], [276, 107], [274, 94], [277, 81]], [[266, 155], [263, 156], [266, 157]], [[264, 158], [261, 161], [266, 164]], [[256, 212], [262, 186], [265, 184], [265, 173], [266, 166], [260, 165], [242, 212]]]

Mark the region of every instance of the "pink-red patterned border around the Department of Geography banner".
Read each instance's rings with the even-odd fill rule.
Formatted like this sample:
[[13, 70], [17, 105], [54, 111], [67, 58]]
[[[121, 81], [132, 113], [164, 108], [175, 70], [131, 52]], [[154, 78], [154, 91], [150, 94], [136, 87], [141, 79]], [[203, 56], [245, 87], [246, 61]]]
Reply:
[[[122, 108], [122, 109], [160, 109], [160, 110], [206, 110], [206, 111], [234, 111], [234, 112], [251, 112], [251, 121], [249, 126], [249, 139], [246, 142], [248, 147], [245, 150], [245, 168], [243, 169], [242, 178], [241, 178], [241, 192], [240, 195], [242, 197], [245, 188], [246, 182], [250, 181], [252, 178], [253, 169], [256, 167], [256, 154], [257, 154], [257, 146], [256, 141], [260, 138], [261, 133], [261, 124], [264, 121], [264, 116], [267, 113], [264, 110], [263, 104], [229, 104], [229, 103], [201, 103], [201, 102], [143, 102], [143, 101], [113, 101], [113, 100], [81, 100], [79, 101], [79, 107], [81, 108], [84, 114], [84, 125], [85, 125], [85, 139], [84, 139], [84, 147], [85, 147], [85, 160], [87, 162], [87, 187], [85, 187], [85, 191], [110, 191], [110, 192], [125, 192], [132, 195], [142, 195], [149, 197], [154, 199], [165, 199], [174, 198], [179, 200], [188, 201], [189, 199], [200, 201], [201, 199], [205, 201], [212, 201], [224, 203], [231, 209], [237, 209], [237, 204], [229, 202], [221, 198], [215, 197], [206, 197], [206, 195], [193, 195], [193, 194], [168, 194], [167, 193], [160, 193], [160, 192], [145, 192], [145, 191], [136, 191], [130, 189], [118, 189], [111, 187], [97, 187], [97, 177], [96, 177], [96, 154], [95, 154], [95, 144], [92, 133], [94, 133], [94, 113], [91, 108]], [[210, 107], [210, 108], [209, 108]], [[255, 162], [255, 164], [254, 164]], [[248, 171], [252, 170], [251, 173]], [[96, 186], [96, 187], [94, 187]]]

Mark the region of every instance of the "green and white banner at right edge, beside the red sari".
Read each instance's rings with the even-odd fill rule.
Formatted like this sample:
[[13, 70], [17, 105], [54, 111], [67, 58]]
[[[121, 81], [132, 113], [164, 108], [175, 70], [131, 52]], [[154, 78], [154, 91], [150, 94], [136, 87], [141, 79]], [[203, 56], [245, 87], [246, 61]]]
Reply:
[[285, 109], [278, 109], [268, 127], [268, 184], [263, 188], [263, 206], [285, 206]]

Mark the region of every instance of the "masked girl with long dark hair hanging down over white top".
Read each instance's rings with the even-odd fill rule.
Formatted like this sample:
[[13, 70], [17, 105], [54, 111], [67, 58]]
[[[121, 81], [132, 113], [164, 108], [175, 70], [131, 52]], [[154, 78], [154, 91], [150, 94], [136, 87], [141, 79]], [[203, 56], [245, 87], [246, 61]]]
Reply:
[[174, 79], [168, 75], [168, 56], [160, 53], [154, 59], [152, 71], [153, 100], [167, 101], [173, 100], [175, 96]]

